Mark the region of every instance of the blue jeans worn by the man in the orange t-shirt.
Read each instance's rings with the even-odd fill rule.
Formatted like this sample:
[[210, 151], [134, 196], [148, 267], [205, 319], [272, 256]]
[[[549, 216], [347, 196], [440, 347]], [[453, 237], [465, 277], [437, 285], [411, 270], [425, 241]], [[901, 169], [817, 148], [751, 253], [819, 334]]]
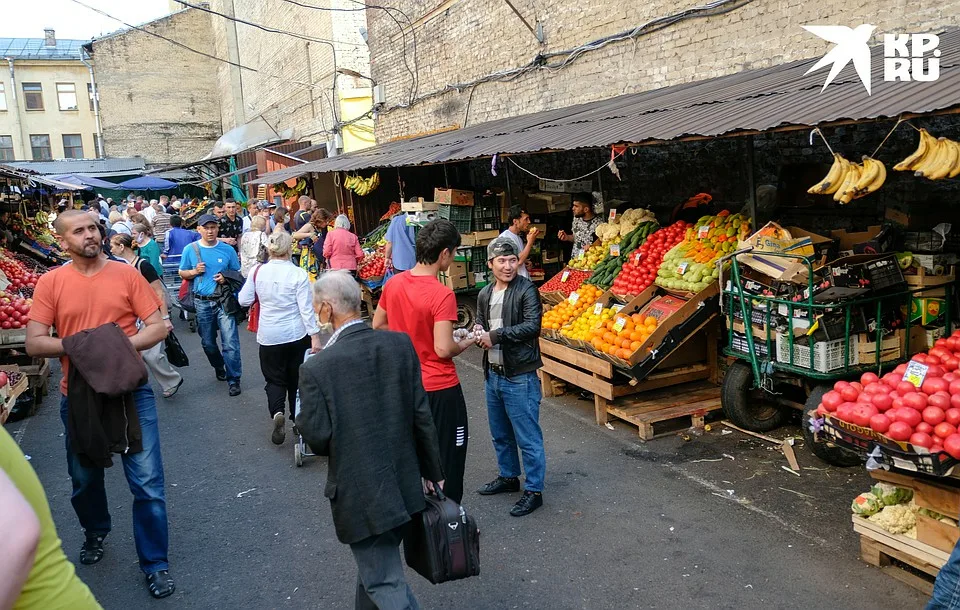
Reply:
[[[157, 426], [157, 403], [150, 385], [140, 386], [134, 393], [143, 451], [122, 455], [123, 473], [133, 493], [133, 540], [145, 574], [168, 569], [167, 564], [167, 501], [163, 492], [163, 459], [160, 456], [160, 430]], [[88, 534], [110, 532], [110, 510], [103, 486], [103, 468], [88, 467], [70, 449], [67, 428], [67, 397], [60, 398], [60, 419], [63, 421], [67, 448], [67, 472], [73, 481], [70, 502], [80, 525]]]

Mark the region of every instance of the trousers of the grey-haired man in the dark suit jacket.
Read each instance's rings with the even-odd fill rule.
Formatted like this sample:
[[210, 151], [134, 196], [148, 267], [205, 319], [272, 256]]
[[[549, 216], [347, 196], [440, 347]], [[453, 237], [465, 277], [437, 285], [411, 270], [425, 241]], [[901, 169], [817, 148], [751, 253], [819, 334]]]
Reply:
[[350, 545], [357, 561], [357, 610], [419, 610], [400, 559], [406, 527], [404, 524]]

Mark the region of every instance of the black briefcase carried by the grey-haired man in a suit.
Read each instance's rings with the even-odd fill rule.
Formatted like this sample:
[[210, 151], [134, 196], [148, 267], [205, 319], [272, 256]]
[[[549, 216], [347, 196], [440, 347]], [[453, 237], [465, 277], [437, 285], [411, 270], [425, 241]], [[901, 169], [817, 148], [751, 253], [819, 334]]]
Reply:
[[427, 506], [413, 516], [403, 538], [407, 565], [440, 584], [480, 574], [480, 530], [463, 507], [443, 495], [426, 497]]

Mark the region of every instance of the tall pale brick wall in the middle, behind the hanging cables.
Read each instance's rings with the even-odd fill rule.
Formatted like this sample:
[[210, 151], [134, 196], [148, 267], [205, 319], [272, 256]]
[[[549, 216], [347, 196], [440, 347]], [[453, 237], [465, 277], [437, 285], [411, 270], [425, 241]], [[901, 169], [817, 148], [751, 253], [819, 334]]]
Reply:
[[[349, 0], [329, 0], [322, 5], [358, 8]], [[223, 130], [262, 115], [277, 132], [292, 130], [293, 139], [323, 141], [334, 126], [333, 106], [338, 105], [332, 93], [333, 79], [339, 79], [340, 87], [364, 85], [360, 79], [335, 74], [334, 52], [337, 68], [364, 75], [370, 71], [369, 52], [360, 36], [360, 28], [366, 27], [364, 11], [316, 10], [281, 0], [212, 0], [210, 8], [246, 21], [332, 41], [333, 48], [321, 42], [234, 25], [212, 16], [217, 55], [230, 56], [231, 30], [235, 30], [239, 63], [258, 70], [237, 71], [220, 64], [216, 89], [222, 103]], [[233, 103], [234, 97], [240, 98], [239, 107]], [[338, 115], [339, 112], [337, 107]]]

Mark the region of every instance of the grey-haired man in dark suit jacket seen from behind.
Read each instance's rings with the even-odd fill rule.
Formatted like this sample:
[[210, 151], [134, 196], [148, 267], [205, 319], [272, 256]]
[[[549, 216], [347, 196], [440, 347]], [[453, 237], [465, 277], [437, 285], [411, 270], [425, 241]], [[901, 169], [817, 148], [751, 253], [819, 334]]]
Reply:
[[399, 546], [425, 506], [424, 487], [443, 483], [420, 360], [407, 335], [363, 323], [360, 286], [346, 272], [320, 276], [313, 307], [334, 333], [300, 368], [297, 428], [314, 453], [330, 456], [323, 495], [357, 562], [356, 607], [419, 608]]

